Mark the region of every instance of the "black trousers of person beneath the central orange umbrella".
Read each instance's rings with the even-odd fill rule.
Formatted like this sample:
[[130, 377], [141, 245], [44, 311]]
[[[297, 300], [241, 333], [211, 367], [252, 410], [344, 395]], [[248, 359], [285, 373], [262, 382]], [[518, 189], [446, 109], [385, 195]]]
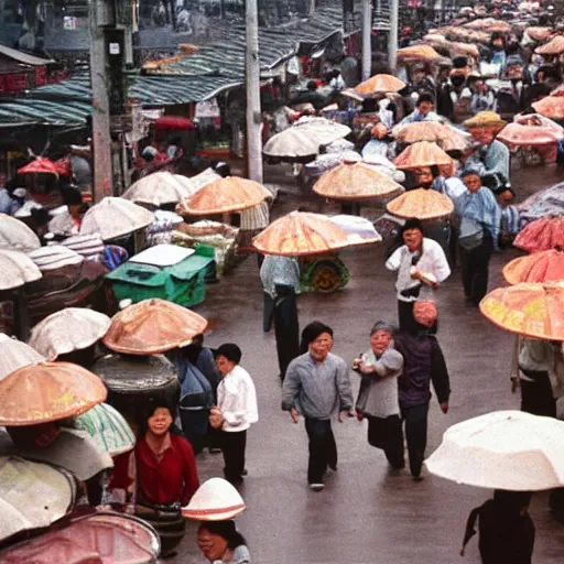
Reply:
[[288, 289], [286, 293], [282, 294], [283, 290], [276, 286], [276, 292], [279, 296], [274, 305], [274, 335], [280, 378], [283, 381], [288, 366], [300, 355], [300, 325], [294, 290]]

